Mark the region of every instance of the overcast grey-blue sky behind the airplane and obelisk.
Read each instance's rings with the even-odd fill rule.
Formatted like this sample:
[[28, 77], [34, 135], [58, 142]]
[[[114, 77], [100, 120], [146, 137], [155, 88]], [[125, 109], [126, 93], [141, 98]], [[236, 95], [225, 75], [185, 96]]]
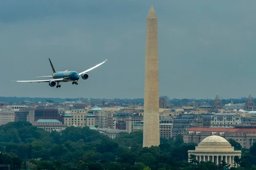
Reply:
[[[159, 95], [256, 97], [256, 1], [0, 0], [0, 96], [143, 98], [146, 18], [158, 18]], [[90, 71], [78, 85], [21, 83]]]

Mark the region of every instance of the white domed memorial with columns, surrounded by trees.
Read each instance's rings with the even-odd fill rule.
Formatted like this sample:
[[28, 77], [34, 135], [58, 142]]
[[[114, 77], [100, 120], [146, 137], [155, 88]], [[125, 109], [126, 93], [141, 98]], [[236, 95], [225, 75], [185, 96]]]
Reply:
[[188, 157], [190, 155], [195, 155], [198, 162], [211, 161], [219, 165], [221, 160], [225, 160], [230, 167], [234, 167], [234, 157], [241, 157], [241, 150], [234, 150], [226, 139], [212, 135], [202, 140], [195, 150], [188, 150]]

